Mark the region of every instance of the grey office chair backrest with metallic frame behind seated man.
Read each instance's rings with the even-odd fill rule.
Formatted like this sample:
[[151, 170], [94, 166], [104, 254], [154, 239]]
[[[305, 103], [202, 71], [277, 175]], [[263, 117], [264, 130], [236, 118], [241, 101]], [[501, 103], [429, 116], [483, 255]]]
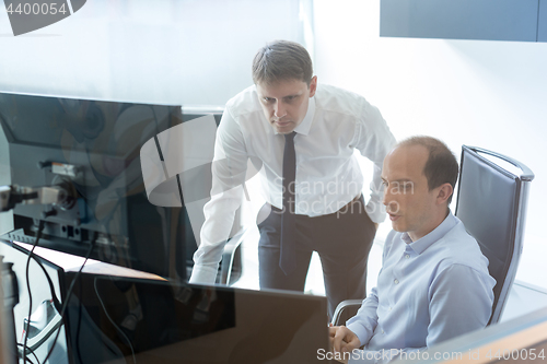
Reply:
[[[508, 172], [491, 160], [509, 163], [522, 174]], [[532, 179], [532, 171], [520, 162], [480, 148], [462, 146], [456, 216], [477, 239], [497, 281], [489, 325], [500, 319], [516, 274]]]

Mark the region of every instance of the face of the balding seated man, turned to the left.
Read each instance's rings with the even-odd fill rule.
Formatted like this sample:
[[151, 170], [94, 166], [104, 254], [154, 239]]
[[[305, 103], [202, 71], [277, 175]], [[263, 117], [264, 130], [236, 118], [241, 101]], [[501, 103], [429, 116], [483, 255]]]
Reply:
[[[439, 188], [429, 190], [423, 167], [429, 152], [422, 145], [397, 146], [384, 160], [384, 204], [393, 230], [408, 233], [412, 242], [438, 226]], [[441, 220], [442, 221], [442, 220]]]

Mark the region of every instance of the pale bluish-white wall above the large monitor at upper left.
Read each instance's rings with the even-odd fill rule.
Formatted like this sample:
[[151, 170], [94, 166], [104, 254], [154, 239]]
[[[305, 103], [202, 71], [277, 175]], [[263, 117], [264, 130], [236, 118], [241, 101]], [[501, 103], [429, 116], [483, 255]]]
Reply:
[[252, 84], [267, 40], [305, 42], [306, 11], [305, 0], [93, 0], [13, 37], [0, 8], [0, 91], [223, 106]]

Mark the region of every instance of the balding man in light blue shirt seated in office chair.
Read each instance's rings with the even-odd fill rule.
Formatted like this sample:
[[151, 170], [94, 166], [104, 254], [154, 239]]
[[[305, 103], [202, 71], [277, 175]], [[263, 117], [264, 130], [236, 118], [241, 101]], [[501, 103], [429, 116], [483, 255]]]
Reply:
[[[377, 286], [347, 327], [329, 329], [335, 353], [346, 353], [335, 357], [405, 359], [488, 324], [496, 280], [449, 209], [457, 173], [452, 152], [430, 137], [407, 139], [385, 157], [383, 203], [393, 231]], [[364, 351], [353, 351], [362, 345]]]

